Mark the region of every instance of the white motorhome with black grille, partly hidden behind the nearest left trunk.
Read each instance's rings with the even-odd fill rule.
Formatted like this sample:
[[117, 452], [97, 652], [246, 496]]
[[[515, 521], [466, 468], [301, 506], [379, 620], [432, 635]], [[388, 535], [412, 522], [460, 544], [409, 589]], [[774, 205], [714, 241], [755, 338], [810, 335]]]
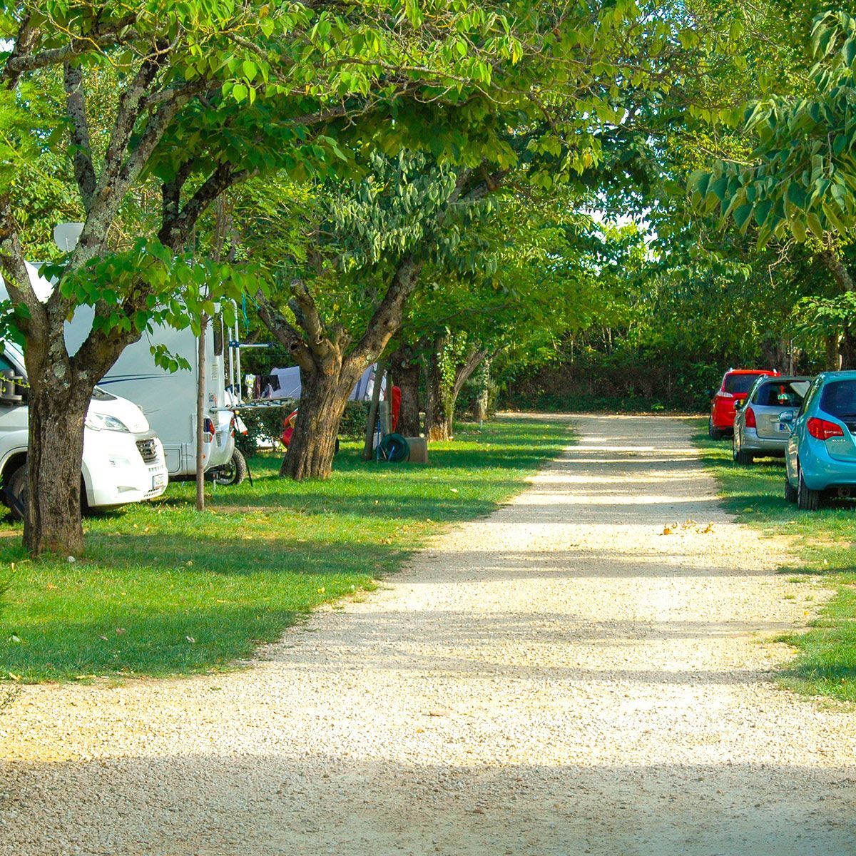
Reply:
[[[21, 517], [29, 409], [24, 354], [13, 342], [3, 344], [0, 372], [0, 483], [3, 501]], [[95, 390], [83, 430], [80, 478], [81, 499], [88, 508], [116, 508], [166, 490], [163, 446], [133, 402]]]

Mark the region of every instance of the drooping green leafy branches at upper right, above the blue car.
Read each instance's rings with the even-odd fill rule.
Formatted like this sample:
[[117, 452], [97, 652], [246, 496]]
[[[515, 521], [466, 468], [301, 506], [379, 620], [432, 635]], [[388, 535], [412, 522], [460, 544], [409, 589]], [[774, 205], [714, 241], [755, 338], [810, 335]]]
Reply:
[[712, 169], [698, 170], [690, 190], [699, 207], [716, 213], [722, 225], [752, 235], [759, 248], [777, 244], [787, 255], [794, 245], [803, 245], [817, 256], [840, 297], [817, 295], [803, 304], [811, 316], [803, 330], [840, 331], [843, 365], [852, 366], [856, 18], [844, 11], [818, 15], [811, 29], [811, 57], [805, 91], [750, 104], [743, 132], [753, 141], [751, 150], [738, 162], [720, 160]]

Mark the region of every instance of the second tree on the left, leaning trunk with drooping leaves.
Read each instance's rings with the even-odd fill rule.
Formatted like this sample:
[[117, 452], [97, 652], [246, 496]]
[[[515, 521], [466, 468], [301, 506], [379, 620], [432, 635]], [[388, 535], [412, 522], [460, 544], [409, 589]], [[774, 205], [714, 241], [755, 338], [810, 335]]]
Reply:
[[[371, 165], [365, 180], [324, 193], [315, 233], [319, 242], [327, 237], [324, 249], [314, 248], [313, 291], [305, 274], [285, 273], [294, 323], [257, 295], [261, 318], [300, 366], [300, 419], [282, 465], [294, 479], [330, 473], [354, 383], [399, 329], [425, 263], [454, 253], [461, 224], [482, 213], [487, 185], [473, 170], [409, 152], [374, 156]], [[351, 330], [360, 327], [355, 336]]]

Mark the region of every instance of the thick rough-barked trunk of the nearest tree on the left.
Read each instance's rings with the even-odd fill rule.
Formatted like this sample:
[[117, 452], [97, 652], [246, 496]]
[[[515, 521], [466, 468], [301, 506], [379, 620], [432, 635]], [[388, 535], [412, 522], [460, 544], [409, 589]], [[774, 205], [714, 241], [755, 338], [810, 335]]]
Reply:
[[58, 395], [56, 383], [31, 383], [24, 546], [32, 556], [79, 556], [83, 422], [92, 389], [78, 382]]

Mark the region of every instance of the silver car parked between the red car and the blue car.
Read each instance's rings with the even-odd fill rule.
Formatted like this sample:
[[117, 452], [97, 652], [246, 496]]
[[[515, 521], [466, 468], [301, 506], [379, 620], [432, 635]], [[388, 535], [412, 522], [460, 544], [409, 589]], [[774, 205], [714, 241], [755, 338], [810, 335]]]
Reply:
[[790, 431], [779, 417], [802, 404], [811, 377], [759, 377], [740, 402], [734, 416], [732, 455], [739, 464], [751, 464], [755, 458], [783, 458]]

